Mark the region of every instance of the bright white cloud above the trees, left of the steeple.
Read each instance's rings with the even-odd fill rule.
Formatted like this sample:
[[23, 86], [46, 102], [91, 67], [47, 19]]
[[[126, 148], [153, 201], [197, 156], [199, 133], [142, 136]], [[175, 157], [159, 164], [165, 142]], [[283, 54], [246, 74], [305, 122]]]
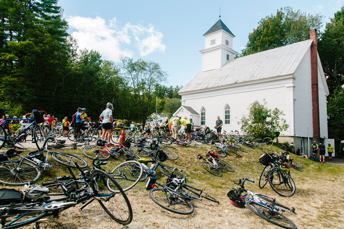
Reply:
[[[154, 51], [164, 52], [166, 46], [162, 44], [163, 33], [153, 25], [131, 25], [118, 27], [116, 18], [106, 22], [103, 18], [86, 18], [80, 16], [66, 19], [71, 28], [76, 31], [72, 36], [78, 40], [81, 49], [99, 51], [106, 59], [118, 60], [120, 54], [131, 57], [136, 50], [141, 56]], [[124, 45], [131, 45], [125, 49]]]

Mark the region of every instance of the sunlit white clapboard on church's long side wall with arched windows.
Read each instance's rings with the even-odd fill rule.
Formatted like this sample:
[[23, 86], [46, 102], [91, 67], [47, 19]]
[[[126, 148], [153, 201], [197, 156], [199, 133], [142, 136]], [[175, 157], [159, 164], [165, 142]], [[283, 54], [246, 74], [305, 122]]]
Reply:
[[[278, 107], [284, 112], [283, 118], [289, 123], [288, 117], [288, 91], [286, 82], [291, 84], [292, 80], [289, 78], [280, 84], [257, 83], [254, 88], [247, 90], [247, 86], [239, 86], [235, 90], [220, 90], [219, 93], [197, 93], [197, 96], [188, 98], [183, 96], [186, 106], [192, 106], [198, 113], [201, 114], [201, 108], [205, 108], [205, 126], [214, 129], [217, 116], [224, 122], [225, 120], [225, 106], [230, 106], [230, 124], [224, 124], [223, 129], [227, 132], [230, 130], [240, 130], [240, 122], [242, 116], [249, 113], [248, 107], [251, 103], [258, 101], [260, 104], [267, 102], [267, 106], [271, 109]], [[267, 88], [270, 86], [270, 88]], [[281, 117], [282, 118], [282, 117]], [[199, 123], [195, 125], [201, 126], [201, 117]], [[203, 126], [204, 127], [204, 126]], [[281, 135], [289, 135], [288, 131], [284, 131]]]

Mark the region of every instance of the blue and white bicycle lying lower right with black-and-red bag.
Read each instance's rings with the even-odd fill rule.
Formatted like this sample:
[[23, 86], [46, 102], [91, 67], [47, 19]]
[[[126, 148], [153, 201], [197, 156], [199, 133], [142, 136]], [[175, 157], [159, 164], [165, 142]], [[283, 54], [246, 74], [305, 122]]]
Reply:
[[[242, 199], [244, 199], [246, 202], [246, 206], [262, 219], [281, 228], [297, 228], [296, 225], [283, 214], [284, 212], [295, 212], [294, 207], [286, 207], [283, 204], [277, 203], [276, 200], [273, 198], [245, 189], [244, 183], [246, 180], [253, 183], [255, 182], [248, 178], [243, 178], [242, 182], [241, 179], [239, 179], [239, 182], [237, 183], [234, 182], [235, 184], [239, 185], [239, 187], [236, 189], [232, 188], [227, 194], [231, 201], [231, 204], [237, 206], [239, 204], [239, 201], [242, 201]], [[246, 192], [246, 194], [241, 195], [243, 192]], [[248, 195], [251, 195], [252, 198], [249, 198]]]

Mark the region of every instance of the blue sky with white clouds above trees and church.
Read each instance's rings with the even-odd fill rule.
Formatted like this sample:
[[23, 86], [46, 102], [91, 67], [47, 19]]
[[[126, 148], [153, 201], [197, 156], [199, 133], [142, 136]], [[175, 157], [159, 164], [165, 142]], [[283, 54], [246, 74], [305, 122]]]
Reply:
[[[96, 50], [103, 59], [120, 54], [160, 64], [169, 74], [165, 85], [185, 85], [201, 71], [202, 36], [219, 20], [235, 35], [233, 50], [240, 52], [261, 18], [290, 6], [325, 16], [324, 26], [343, 0], [59, 0], [69, 33], [79, 48]], [[323, 29], [324, 29], [323, 26]], [[322, 29], [322, 30], [323, 30]]]

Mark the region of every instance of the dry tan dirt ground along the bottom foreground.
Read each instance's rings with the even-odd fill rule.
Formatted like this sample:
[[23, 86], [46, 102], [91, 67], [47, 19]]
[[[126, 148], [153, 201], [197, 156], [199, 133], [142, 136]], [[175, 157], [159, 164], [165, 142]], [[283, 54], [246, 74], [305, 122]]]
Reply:
[[[295, 213], [285, 214], [300, 229], [344, 228], [343, 177], [323, 178], [316, 182], [311, 178], [305, 178], [304, 184], [295, 183], [296, 193], [291, 198], [278, 196], [270, 187], [253, 191], [275, 197], [281, 204], [294, 206]], [[208, 193], [216, 197], [220, 204], [206, 200], [194, 201], [194, 213], [184, 216], [174, 214], [154, 204], [148, 196], [148, 191], [140, 184], [127, 192], [133, 208], [133, 221], [130, 225], [122, 226], [112, 221], [96, 202], [88, 205], [83, 211], [79, 211], [78, 206], [70, 208], [61, 212], [58, 219], [45, 221], [40, 225], [41, 229], [278, 228], [259, 218], [247, 207], [240, 209], [231, 205], [226, 195], [227, 191], [216, 193], [213, 189]], [[32, 225], [25, 228], [32, 228]]]

